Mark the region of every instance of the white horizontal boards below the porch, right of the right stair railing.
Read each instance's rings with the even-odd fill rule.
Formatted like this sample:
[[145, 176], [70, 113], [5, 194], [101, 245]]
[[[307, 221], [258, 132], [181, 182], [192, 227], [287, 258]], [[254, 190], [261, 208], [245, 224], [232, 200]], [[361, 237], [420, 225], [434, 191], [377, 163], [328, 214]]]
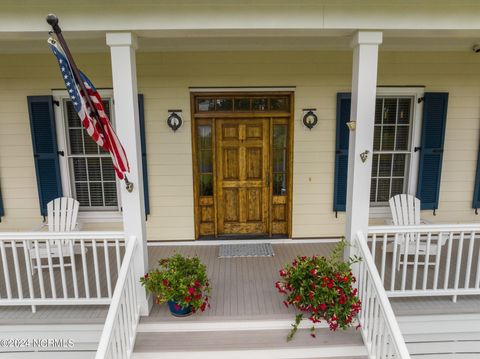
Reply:
[[397, 319], [412, 358], [480, 358], [480, 314], [400, 316]]

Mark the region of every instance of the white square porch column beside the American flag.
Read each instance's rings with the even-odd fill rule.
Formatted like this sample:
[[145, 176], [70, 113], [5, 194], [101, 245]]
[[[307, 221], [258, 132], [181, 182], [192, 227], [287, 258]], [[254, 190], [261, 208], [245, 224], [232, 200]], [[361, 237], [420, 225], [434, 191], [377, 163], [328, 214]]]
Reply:
[[[128, 237], [135, 236], [139, 242], [134, 255], [135, 273], [138, 279], [148, 270], [148, 250], [145, 234], [145, 205], [143, 197], [142, 151], [138, 118], [137, 65], [135, 35], [107, 33], [112, 60], [113, 96], [115, 100], [115, 124], [118, 137], [125, 147], [133, 191], [128, 192], [122, 184], [123, 228]], [[140, 314], [148, 315], [149, 300], [137, 281], [140, 298]]]

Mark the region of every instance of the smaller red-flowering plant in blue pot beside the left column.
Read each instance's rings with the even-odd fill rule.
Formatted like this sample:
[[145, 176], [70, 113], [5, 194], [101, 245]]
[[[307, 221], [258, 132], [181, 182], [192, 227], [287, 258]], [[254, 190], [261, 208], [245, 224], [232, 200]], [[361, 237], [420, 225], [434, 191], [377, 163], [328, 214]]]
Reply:
[[206, 266], [198, 257], [175, 254], [158, 261], [159, 267], [145, 274], [140, 282], [153, 293], [158, 304], [168, 303], [174, 316], [187, 316], [210, 307], [210, 283]]

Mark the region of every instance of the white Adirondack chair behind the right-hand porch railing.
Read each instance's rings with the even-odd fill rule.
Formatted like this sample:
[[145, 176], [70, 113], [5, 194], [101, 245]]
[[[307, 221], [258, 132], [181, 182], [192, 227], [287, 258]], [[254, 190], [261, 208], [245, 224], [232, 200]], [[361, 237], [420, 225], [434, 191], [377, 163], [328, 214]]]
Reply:
[[[420, 219], [420, 200], [409, 194], [398, 194], [390, 198], [389, 201], [390, 210], [392, 212], [393, 225], [395, 226], [409, 226], [409, 225], [419, 225], [422, 224]], [[423, 222], [425, 224], [425, 222]], [[400, 269], [400, 265], [407, 261], [408, 264], [415, 264], [414, 262], [408, 262], [408, 256], [415, 256], [417, 250], [417, 239], [419, 238], [420, 233], [405, 233], [398, 237], [397, 240], [397, 270]], [[431, 240], [429, 258], [426, 257], [427, 252], [427, 239], [419, 239], [418, 244], [418, 257], [423, 256], [424, 261], [418, 262], [420, 265], [430, 265], [434, 264], [435, 261], [430, 262], [430, 257], [435, 257], [437, 255], [438, 245], [443, 246], [446, 242], [446, 238], [439, 238], [436, 241]], [[408, 248], [406, 245], [408, 243]], [[393, 251], [393, 243], [387, 247], [388, 251]], [[407, 251], [407, 252], [406, 252]], [[407, 258], [405, 257], [405, 252], [407, 253]]]

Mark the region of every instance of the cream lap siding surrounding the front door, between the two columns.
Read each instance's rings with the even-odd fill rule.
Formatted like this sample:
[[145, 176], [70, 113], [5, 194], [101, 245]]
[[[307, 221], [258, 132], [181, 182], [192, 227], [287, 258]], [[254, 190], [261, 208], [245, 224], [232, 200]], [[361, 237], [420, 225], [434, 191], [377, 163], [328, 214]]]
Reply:
[[[331, 211], [335, 96], [350, 84], [350, 57], [349, 52], [315, 56], [296, 52], [138, 54], [138, 83], [139, 91], [145, 94], [149, 153], [149, 233], [160, 239], [193, 237], [188, 88], [296, 86], [293, 235], [341, 234], [343, 220], [335, 220]], [[298, 119], [303, 108], [312, 106], [318, 109], [320, 123], [309, 131]], [[165, 124], [171, 108], [184, 111], [185, 124], [175, 134]], [[159, 186], [160, 182], [164, 185]]]

